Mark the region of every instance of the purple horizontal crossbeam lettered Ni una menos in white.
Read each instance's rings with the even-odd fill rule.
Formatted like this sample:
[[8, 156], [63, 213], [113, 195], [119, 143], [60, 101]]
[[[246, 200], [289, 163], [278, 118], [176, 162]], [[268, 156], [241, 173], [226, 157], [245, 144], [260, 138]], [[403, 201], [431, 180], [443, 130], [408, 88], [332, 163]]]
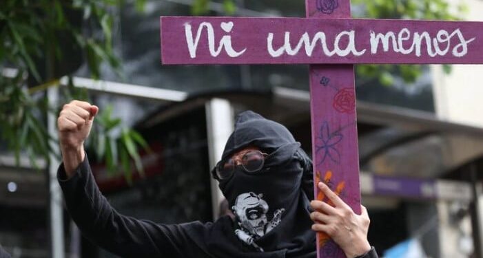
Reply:
[[483, 63], [483, 23], [161, 17], [164, 64]]

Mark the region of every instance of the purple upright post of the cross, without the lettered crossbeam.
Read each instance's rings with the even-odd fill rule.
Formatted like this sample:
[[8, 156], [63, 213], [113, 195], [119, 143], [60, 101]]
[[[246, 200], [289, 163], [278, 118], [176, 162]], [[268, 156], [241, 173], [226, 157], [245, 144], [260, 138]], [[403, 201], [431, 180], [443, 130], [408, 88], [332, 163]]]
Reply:
[[[324, 17], [320, 1], [306, 0], [308, 18]], [[317, 5], [316, 5], [317, 3]], [[330, 3], [326, 2], [326, 7]], [[331, 18], [351, 17], [350, 0], [340, 0], [335, 4]], [[360, 214], [359, 154], [356, 118], [356, 84], [353, 65], [310, 65], [310, 109], [312, 133], [312, 160], [314, 161], [314, 193], [318, 199], [317, 171], [320, 176], [331, 171], [331, 189], [343, 182], [345, 189], [340, 193], [353, 211]], [[353, 96], [352, 103], [345, 100], [347, 94]], [[341, 112], [342, 111], [342, 112]], [[345, 112], [347, 111], [347, 112]], [[322, 140], [322, 142], [320, 142]], [[322, 145], [322, 146], [321, 146]], [[325, 149], [323, 147], [325, 145]], [[320, 153], [322, 151], [322, 153]], [[324, 155], [322, 155], [324, 154]], [[336, 158], [329, 158], [334, 155]], [[317, 234], [317, 257], [345, 258], [344, 252], [332, 240], [322, 243], [324, 235]]]

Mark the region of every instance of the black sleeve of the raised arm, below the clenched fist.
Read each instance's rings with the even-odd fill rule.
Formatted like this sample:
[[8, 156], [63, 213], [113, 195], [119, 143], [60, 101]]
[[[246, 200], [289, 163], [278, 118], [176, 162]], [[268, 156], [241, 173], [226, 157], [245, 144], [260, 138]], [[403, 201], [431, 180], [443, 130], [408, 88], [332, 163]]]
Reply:
[[[180, 225], [163, 225], [117, 213], [99, 191], [87, 155], [72, 178], [57, 173], [68, 211], [85, 237], [121, 257], [185, 257], [189, 245]], [[184, 248], [185, 249], [185, 248]]]

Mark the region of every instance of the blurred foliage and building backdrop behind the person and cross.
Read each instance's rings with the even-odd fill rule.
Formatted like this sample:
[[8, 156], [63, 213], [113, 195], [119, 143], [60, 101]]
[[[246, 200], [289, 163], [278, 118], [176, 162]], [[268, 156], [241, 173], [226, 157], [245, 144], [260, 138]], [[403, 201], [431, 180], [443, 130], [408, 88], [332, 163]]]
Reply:
[[[482, 0], [355, 0], [353, 17], [482, 21]], [[163, 66], [160, 16], [305, 17], [302, 0], [0, 3], [0, 244], [12, 257], [115, 257], [81, 237], [56, 183], [56, 115], [101, 108], [88, 155], [124, 215], [216, 219], [209, 170], [236, 114], [311, 153], [307, 65]], [[362, 204], [386, 257], [483, 257], [483, 67], [360, 65]]]

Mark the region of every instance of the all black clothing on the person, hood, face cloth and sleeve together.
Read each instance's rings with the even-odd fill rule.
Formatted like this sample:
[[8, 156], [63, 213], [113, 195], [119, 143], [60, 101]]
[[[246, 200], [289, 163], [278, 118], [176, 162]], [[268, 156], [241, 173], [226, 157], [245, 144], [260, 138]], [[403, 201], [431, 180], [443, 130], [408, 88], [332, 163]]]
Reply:
[[231, 206], [240, 195], [265, 202], [264, 222], [277, 220], [262, 237], [251, 236], [255, 245], [243, 240], [250, 234], [245, 234], [240, 215], [214, 223], [165, 225], [117, 213], [97, 188], [87, 158], [68, 180], [61, 165], [58, 178], [83, 235], [121, 257], [316, 257], [308, 211], [308, 196], [313, 195], [309, 158], [285, 127], [251, 111], [238, 116], [223, 158], [249, 145], [269, 153], [264, 168], [254, 175], [237, 173], [221, 181], [220, 189]]

